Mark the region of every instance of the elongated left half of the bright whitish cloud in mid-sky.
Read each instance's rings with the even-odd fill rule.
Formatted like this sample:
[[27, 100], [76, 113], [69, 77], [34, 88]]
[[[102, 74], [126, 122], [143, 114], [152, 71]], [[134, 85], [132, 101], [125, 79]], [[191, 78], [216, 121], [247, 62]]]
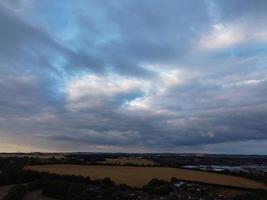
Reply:
[[67, 85], [67, 100], [72, 107], [101, 106], [118, 95], [145, 92], [148, 82], [119, 75], [85, 75]]

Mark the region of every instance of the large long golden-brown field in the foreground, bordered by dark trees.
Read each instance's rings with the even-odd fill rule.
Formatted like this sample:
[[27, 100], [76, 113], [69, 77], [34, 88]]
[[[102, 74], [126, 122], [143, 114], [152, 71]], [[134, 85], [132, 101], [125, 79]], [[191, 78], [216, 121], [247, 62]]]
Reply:
[[36, 165], [27, 166], [25, 169], [65, 175], [89, 176], [91, 179], [109, 177], [117, 184], [124, 183], [133, 187], [142, 187], [152, 178], [169, 181], [171, 177], [177, 177], [182, 180], [202, 183], [267, 190], [263, 183], [242, 177], [168, 167]]

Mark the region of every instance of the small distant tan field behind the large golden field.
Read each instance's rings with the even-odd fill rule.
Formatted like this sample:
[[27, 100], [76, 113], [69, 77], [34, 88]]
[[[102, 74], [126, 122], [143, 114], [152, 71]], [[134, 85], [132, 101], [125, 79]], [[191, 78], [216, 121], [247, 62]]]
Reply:
[[114, 165], [125, 165], [125, 164], [145, 165], [145, 166], [156, 165], [156, 163], [153, 160], [141, 157], [106, 158], [105, 161], [101, 161], [100, 163], [114, 164]]

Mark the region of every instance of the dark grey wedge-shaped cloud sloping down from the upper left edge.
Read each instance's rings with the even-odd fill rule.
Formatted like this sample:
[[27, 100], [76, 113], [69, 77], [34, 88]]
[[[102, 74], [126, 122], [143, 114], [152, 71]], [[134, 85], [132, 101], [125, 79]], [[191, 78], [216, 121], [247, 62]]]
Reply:
[[[67, 65], [65, 70], [79, 70], [81, 67], [93, 71], [103, 71], [100, 61], [85, 52], [75, 52], [58, 43], [45, 29], [34, 27], [12, 13], [0, 9], [1, 23], [1, 64], [20, 70], [21, 65], [27, 65], [29, 70], [37, 69], [47, 72], [60, 73], [54, 66], [57, 57], [63, 57]], [[62, 75], [62, 74], [61, 74]]]

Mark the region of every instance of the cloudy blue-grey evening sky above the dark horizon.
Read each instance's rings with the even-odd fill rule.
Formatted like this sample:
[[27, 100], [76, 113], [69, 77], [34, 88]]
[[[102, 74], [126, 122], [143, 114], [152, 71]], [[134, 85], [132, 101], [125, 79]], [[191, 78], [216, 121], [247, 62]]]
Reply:
[[0, 152], [266, 154], [267, 1], [0, 1]]

